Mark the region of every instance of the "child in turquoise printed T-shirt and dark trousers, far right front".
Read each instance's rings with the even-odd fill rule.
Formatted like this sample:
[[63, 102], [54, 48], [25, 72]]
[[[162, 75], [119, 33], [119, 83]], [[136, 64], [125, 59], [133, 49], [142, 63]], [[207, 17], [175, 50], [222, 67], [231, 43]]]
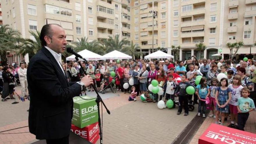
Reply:
[[237, 129], [244, 131], [244, 126], [249, 117], [249, 113], [255, 109], [255, 104], [251, 98], [250, 90], [248, 88], [243, 88], [241, 91], [242, 97], [238, 98], [237, 109], [238, 109], [238, 125]]

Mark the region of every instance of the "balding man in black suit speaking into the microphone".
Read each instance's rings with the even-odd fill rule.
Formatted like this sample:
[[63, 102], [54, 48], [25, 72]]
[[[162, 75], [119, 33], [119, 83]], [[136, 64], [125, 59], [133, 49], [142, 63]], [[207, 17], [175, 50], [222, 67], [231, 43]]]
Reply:
[[68, 144], [73, 116], [73, 97], [93, 81], [83, 77], [69, 82], [60, 63], [67, 45], [64, 29], [58, 24], [42, 27], [42, 49], [30, 60], [27, 70], [30, 94], [29, 131], [47, 144]]

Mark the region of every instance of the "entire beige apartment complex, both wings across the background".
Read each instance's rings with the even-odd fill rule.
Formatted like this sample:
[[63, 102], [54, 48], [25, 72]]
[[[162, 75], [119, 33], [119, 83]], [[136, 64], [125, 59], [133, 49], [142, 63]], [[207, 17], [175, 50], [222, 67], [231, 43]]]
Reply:
[[[5, 0], [4, 24], [33, 39], [29, 30], [60, 24], [67, 41], [89, 41], [120, 35], [133, 40], [145, 54], [180, 46], [180, 59], [199, 56], [196, 44], [207, 49], [204, 58], [230, 51], [227, 42], [244, 42], [239, 54], [256, 54], [256, 0]], [[154, 15], [154, 19], [153, 19]], [[215, 57], [216, 58], [216, 57]]]

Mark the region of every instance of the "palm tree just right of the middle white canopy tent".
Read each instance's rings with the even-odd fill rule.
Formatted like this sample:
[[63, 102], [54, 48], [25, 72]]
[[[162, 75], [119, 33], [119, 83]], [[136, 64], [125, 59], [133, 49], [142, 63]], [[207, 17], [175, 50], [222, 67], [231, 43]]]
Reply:
[[135, 59], [135, 56], [140, 56], [143, 54], [141, 51], [137, 51], [140, 49], [141, 48], [138, 45], [134, 45], [133, 41], [131, 41], [131, 45], [124, 47], [122, 49], [122, 52], [124, 52], [125, 54], [128, 54], [129, 56]]

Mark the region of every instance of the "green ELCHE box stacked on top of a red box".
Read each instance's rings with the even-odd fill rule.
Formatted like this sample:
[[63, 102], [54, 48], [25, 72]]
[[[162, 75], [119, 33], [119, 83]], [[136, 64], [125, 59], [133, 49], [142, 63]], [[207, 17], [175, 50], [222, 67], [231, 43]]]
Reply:
[[[83, 99], [81, 99], [81, 97]], [[92, 97], [81, 97], [73, 97], [74, 107], [72, 124], [79, 128], [84, 128], [98, 121], [98, 107], [95, 99], [92, 99]]]

